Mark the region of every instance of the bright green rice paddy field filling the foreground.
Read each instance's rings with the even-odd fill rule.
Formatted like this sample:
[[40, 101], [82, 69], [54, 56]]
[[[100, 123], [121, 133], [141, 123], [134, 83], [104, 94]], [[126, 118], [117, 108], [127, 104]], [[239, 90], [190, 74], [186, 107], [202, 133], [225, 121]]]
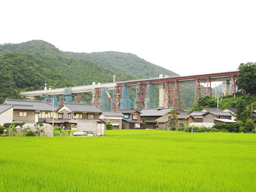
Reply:
[[256, 191], [256, 134], [2, 137], [0, 191]]

